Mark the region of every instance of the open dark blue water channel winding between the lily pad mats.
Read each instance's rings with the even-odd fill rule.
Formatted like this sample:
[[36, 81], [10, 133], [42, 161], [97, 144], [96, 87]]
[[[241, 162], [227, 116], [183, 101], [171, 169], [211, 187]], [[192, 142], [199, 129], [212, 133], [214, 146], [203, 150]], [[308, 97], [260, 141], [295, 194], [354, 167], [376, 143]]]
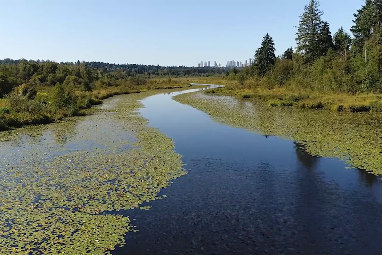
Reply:
[[178, 93], [139, 111], [173, 138], [189, 173], [149, 211], [128, 211], [139, 232], [114, 254], [382, 254], [380, 177], [217, 123]]

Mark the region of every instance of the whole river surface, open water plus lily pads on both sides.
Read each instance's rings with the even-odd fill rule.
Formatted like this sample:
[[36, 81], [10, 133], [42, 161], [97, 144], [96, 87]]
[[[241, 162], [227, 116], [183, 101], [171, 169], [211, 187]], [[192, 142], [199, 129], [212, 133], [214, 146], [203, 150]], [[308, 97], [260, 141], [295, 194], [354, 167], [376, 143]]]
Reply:
[[1, 132], [0, 253], [379, 254], [380, 113], [202, 90]]

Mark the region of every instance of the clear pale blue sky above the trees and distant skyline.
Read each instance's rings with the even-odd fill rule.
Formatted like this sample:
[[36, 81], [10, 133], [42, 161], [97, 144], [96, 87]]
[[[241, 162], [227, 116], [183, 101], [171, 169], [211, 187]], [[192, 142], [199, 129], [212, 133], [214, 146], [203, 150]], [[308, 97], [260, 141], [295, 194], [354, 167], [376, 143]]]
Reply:
[[[0, 0], [0, 59], [225, 65], [253, 57], [262, 36], [295, 46], [309, 0]], [[334, 34], [363, 0], [321, 0]]]

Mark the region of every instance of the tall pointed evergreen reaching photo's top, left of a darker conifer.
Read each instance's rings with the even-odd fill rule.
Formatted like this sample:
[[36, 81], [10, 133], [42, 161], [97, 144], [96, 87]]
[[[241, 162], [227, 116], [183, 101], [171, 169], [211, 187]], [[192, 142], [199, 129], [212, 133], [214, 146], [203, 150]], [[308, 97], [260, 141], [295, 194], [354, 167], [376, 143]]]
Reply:
[[299, 16], [297, 51], [303, 52], [309, 60], [314, 60], [322, 54], [319, 39], [324, 22], [321, 20], [323, 12], [319, 10], [319, 6], [318, 1], [311, 0], [309, 5], [305, 5], [304, 13]]

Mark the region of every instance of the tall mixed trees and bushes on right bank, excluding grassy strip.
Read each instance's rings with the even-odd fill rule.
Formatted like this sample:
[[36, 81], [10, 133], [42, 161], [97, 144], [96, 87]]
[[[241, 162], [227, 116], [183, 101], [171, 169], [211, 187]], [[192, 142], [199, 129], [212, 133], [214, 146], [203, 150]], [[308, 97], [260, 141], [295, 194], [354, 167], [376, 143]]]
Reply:
[[266, 34], [253, 65], [236, 75], [242, 85], [259, 77], [267, 88], [290, 86], [346, 93], [382, 92], [382, 0], [366, 0], [354, 13], [353, 37], [343, 27], [333, 34], [322, 20], [317, 0], [310, 0], [296, 26], [297, 47], [275, 56], [275, 42]]

